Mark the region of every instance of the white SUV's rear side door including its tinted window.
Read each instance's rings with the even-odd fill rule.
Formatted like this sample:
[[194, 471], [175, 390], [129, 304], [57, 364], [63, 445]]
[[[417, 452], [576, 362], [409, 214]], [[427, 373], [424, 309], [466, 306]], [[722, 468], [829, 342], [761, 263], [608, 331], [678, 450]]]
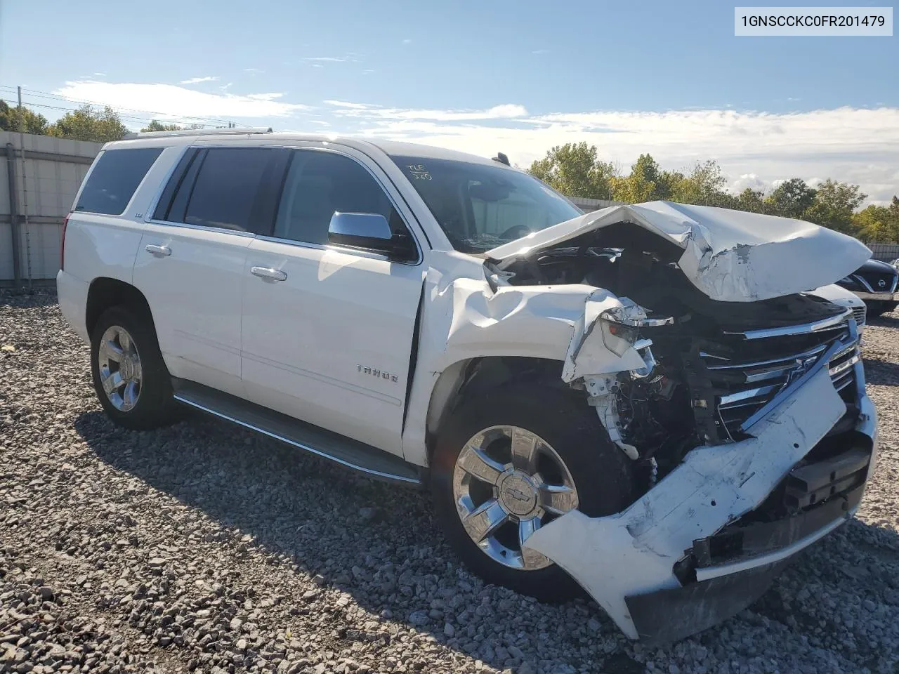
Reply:
[[246, 251], [271, 230], [265, 187], [275, 148], [191, 147], [165, 186], [138, 248], [147, 297], [174, 377], [242, 394], [240, 312]]

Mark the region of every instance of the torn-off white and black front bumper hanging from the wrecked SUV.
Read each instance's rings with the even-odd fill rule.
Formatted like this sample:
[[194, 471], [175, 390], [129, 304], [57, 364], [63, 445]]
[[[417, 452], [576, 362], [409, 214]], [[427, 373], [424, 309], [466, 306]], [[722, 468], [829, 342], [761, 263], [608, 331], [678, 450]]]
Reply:
[[[741, 545], [733, 545], [733, 529], [778, 497], [797, 465], [820, 463], [812, 453], [847, 411], [826, 371], [753, 427], [754, 438], [696, 448], [628, 509], [601, 518], [574, 510], [527, 545], [570, 573], [632, 639], [663, 643], [717, 625], [758, 599], [793, 555], [857, 509], [876, 465], [877, 412], [864, 393], [861, 363], [855, 367], [859, 416], [845, 449], [858, 451], [828, 457], [855, 470], [834, 474], [835, 492], [829, 482], [810, 486], [821, 506], [745, 528]], [[841, 482], [851, 474], [854, 483]]]

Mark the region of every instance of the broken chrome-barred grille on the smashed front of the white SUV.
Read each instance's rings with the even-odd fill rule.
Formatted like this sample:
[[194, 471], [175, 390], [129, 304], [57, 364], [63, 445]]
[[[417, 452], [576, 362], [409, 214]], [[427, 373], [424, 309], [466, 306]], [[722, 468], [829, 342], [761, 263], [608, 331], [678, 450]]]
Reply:
[[[699, 353], [716, 394], [717, 420], [722, 439], [734, 438], [746, 421], [778, 393], [802, 377], [823, 354], [840, 342], [828, 369], [834, 388], [846, 402], [854, 402], [855, 368], [859, 362], [858, 335], [850, 331], [850, 310], [839, 320], [788, 326], [747, 333], [730, 333], [743, 341], [709, 346]], [[752, 353], [743, 357], [743, 352]], [[726, 354], [726, 355], [725, 355]], [[734, 355], [736, 354], [736, 355]]]

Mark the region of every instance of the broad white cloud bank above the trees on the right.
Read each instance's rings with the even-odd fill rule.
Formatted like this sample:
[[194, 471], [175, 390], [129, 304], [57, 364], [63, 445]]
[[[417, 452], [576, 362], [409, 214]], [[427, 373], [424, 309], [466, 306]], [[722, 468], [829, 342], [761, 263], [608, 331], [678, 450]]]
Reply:
[[[861, 185], [872, 202], [899, 192], [899, 108], [837, 108], [775, 114], [735, 110], [557, 112], [528, 116], [519, 105], [487, 111], [360, 107], [334, 110], [344, 128], [493, 156], [527, 166], [552, 146], [586, 141], [627, 171], [642, 153], [663, 168], [717, 159], [731, 182], [770, 190], [792, 177]], [[483, 121], [485, 123], [477, 123]], [[353, 127], [350, 127], [351, 130]]]

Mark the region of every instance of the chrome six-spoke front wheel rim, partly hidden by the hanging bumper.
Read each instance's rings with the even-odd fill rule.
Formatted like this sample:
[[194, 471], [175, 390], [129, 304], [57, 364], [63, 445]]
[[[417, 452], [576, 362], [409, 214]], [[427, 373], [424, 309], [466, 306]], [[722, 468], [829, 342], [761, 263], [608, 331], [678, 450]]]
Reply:
[[518, 426], [491, 426], [469, 439], [458, 453], [452, 488], [471, 540], [494, 562], [523, 571], [552, 562], [522, 544], [578, 505], [574, 480], [556, 450]]

